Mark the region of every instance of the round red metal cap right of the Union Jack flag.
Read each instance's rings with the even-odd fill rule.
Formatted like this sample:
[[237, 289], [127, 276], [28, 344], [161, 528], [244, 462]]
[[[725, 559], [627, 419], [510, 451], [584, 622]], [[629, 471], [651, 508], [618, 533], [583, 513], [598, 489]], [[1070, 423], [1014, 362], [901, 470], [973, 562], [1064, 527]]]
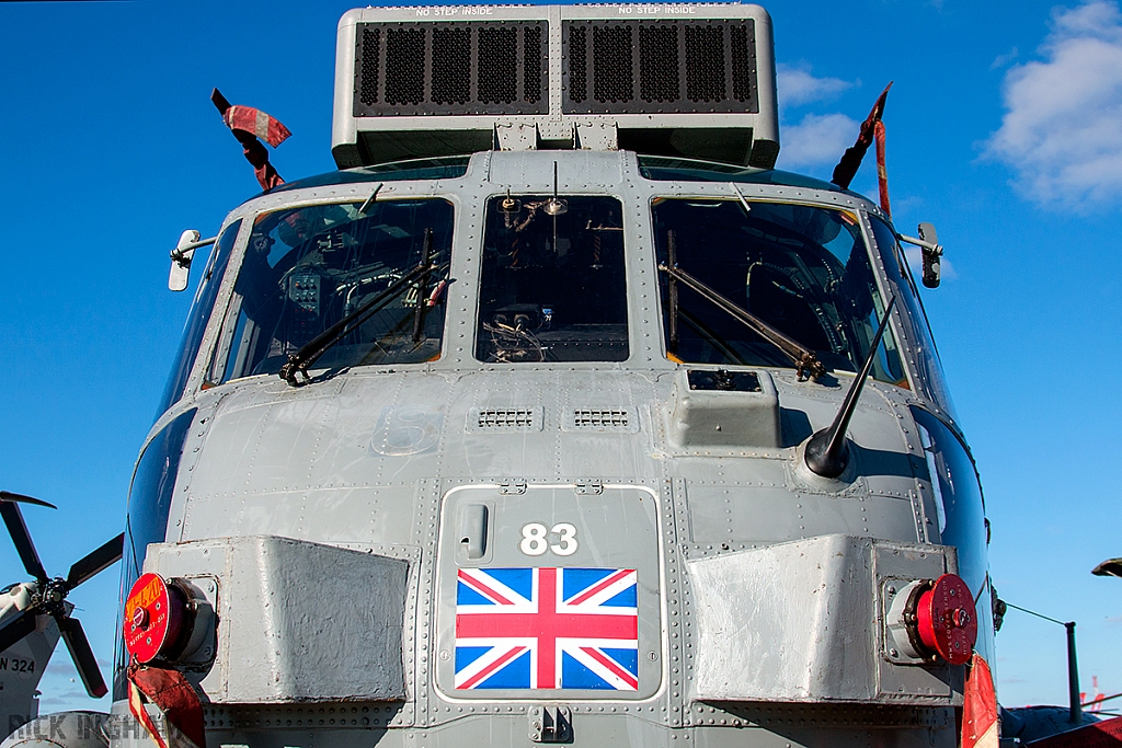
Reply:
[[978, 638], [974, 595], [957, 574], [944, 574], [916, 607], [920, 639], [951, 665], [969, 662]]

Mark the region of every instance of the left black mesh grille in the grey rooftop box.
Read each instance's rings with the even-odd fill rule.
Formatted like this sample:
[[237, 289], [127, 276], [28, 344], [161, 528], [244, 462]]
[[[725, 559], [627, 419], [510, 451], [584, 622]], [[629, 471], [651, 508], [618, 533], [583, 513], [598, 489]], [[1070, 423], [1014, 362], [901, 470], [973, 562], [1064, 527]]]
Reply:
[[360, 24], [353, 114], [544, 114], [545, 35], [545, 21]]

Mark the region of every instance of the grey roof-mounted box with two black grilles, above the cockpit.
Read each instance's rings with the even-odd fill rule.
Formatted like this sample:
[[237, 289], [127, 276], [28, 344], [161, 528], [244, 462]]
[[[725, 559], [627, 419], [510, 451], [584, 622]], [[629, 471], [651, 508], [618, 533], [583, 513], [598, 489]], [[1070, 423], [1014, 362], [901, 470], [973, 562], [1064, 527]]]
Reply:
[[779, 155], [771, 18], [754, 4], [359, 8], [337, 61], [340, 168], [490, 149]]

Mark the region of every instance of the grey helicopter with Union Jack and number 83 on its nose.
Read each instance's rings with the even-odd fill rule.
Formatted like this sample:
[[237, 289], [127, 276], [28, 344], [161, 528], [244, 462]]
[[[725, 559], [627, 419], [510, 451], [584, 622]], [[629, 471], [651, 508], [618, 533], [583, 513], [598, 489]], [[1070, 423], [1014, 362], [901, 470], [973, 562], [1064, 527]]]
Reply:
[[941, 248], [773, 168], [766, 12], [362, 9], [337, 59], [339, 170], [173, 253], [110, 742], [957, 745]]

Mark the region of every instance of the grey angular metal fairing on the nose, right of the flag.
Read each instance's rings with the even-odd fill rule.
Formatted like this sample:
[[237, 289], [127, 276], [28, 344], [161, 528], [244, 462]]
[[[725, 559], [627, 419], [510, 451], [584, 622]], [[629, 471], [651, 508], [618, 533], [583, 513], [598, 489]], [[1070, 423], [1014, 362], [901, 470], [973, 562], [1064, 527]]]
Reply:
[[[688, 562], [698, 609], [696, 699], [946, 703], [951, 668], [881, 667], [889, 646], [868, 626], [884, 571], [938, 576], [946, 552], [826, 535]], [[882, 570], [885, 555], [894, 563]]]

